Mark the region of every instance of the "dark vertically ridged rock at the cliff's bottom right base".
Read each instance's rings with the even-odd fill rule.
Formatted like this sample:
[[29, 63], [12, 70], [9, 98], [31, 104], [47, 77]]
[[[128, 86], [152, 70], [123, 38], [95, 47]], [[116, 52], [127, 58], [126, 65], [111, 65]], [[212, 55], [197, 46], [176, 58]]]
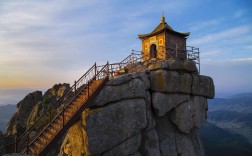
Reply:
[[156, 118], [159, 148], [162, 156], [204, 156], [204, 148], [197, 130], [181, 133], [168, 116]]

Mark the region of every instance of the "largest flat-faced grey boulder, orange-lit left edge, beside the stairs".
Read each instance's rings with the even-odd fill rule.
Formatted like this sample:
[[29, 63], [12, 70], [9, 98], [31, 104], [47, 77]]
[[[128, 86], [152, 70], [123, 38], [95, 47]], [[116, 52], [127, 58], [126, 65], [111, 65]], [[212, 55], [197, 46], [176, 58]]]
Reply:
[[141, 132], [147, 125], [143, 99], [124, 100], [82, 115], [86, 153], [99, 154]]

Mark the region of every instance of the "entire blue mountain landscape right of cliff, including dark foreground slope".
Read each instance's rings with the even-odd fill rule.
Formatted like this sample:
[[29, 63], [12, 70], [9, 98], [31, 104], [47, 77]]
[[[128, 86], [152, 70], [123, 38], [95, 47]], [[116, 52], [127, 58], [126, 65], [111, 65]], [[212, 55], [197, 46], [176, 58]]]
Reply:
[[201, 129], [207, 156], [252, 155], [252, 93], [208, 100]]

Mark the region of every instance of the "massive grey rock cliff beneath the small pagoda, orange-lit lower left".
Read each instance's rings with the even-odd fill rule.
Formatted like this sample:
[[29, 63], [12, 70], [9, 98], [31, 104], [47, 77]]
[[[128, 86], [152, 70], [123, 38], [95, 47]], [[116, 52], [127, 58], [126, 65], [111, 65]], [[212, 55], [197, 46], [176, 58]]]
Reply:
[[111, 79], [72, 126], [60, 155], [202, 156], [213, 80], [191, 61], [159, 61]]

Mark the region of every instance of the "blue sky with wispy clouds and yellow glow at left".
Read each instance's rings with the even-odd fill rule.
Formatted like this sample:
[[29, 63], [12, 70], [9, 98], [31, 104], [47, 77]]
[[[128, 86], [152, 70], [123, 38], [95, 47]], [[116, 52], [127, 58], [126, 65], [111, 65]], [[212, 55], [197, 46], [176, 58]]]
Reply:
[[200, 48], [216, 97], [252, 92], [251, 0], [0, 0], [0, 105], [141, 50], [137, 35], [162, 12], [191, 32], [187, 45]]

